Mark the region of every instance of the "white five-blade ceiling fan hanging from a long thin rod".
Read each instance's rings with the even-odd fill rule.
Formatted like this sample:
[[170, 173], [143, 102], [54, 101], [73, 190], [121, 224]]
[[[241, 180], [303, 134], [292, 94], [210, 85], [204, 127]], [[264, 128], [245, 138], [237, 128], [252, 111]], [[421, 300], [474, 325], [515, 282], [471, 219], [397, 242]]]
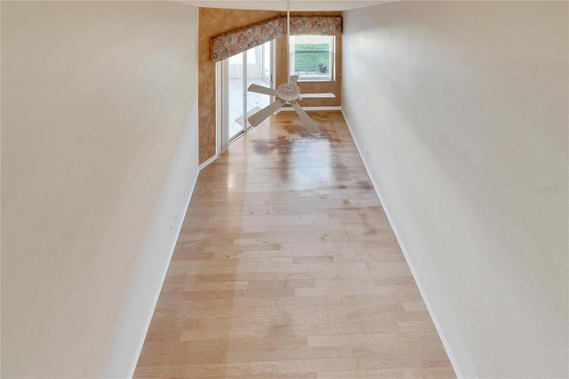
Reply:
[[[291, 9], [290, 0], [286, 0], [286, 37], [287, 43], [290, 41], [291, 35]], [[247, 120], [252, 126], [257, 126], [263, 122], [266, 118], [276, 112], [276, 110], [281, 109], [286, 104], [291, 104], [296, 113], [301, 117], [302, 123], [306, 126], [311, 134], [320, 133], [317, 123], [314, 122], [312, 118], [307, 115], [307, 113], [302, 109], [298, 100], [301, 98], [331, 98], [335, 97], [333, 93], [305, 93], [301, 94], [301, 88], [296, 85], [299, 80], [298, 75], [292, 75], [288, 78], [288, 82], [279, 85], [276, 90], [273, 88], [263, 87], [262, 85], [249, 85], [247, 91], [252, 93], [263, 93], [270, 96], [275, 96], [276, 101], [269, 104], [267, 107], [260, 109], [257, 113], [248, 117]]]

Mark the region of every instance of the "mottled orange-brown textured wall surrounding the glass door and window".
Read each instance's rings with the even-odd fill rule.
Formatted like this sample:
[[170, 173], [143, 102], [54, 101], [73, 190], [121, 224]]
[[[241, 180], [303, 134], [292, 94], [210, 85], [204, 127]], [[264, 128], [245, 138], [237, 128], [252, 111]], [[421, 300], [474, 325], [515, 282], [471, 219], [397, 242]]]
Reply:
[[[236, 28], [243, 28], [255, 22], [268, 20], [286, 14], [272, 11], [244, 11], [235, 9], [199, 9], [199, 161], [204, 163], [215, 155], [215, 63], [210, 59], [210, 38]], [[298, 15], [341, 15], [341, 12], [302, 12]], [[286, 38], [276, 40], [276, 85], [286, 79]], [[305, 93], [334, 93], [336, 99], [307, 99], [303, 106], [339, 106], [341, 104], [341, 36], [336, 60], [336, 81], [329, 83], [303, 83]]]

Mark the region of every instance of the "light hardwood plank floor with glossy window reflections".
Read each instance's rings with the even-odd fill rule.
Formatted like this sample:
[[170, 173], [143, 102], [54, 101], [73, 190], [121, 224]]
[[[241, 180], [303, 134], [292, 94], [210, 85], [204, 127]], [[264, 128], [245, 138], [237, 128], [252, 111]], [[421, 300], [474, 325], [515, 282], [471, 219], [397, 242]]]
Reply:
[[340, 112], [200, 173], [136, 378], [456, 377]]

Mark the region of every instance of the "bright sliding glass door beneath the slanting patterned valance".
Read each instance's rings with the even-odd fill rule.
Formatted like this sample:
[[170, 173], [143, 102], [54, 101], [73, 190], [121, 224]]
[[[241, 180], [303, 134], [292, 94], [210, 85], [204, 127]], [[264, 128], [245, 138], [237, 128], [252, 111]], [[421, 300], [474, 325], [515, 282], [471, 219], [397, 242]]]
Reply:
[[218, 63], [219, 150], [251, 127], [247, 117], [270, 103], [268, 95], [249, 93], [247, 87], [254, 83], [274, 88], [273, 50], [273, 44], [268, 42]]

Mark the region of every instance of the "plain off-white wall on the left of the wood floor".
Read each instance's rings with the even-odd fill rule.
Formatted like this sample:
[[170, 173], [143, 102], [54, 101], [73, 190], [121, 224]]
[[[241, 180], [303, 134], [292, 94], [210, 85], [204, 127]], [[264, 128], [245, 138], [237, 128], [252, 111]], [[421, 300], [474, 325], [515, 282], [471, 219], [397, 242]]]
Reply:
[[2, 2], [3, 377], [132, 372], [198, 171], [197, 13]]

